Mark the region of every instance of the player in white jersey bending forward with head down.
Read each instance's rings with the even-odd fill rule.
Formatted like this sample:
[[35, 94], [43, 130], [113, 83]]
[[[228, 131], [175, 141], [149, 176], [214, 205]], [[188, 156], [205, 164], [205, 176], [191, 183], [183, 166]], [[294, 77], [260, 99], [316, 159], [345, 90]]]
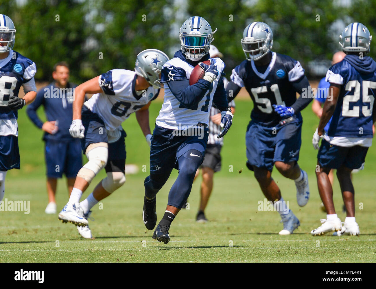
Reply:
[[[121, 123], [130, 114], [136, 119], [150, 145], [150, 102], [158, 96], [162, 65], [168, 56], [156, 49], [140, 52], [135, 71], [113, 69], [74, 90], [73, 122], [69, 132], [81, 138], [81, 148], [88, 162], [77, 173], [68, 203], [59, 213], [62, 222], [77, 225], [81, 236], [91, 238], [88, 227], [90, 209], [125, 183], [126, 133]], [[94, 94], [84, 103], [86, 93]], [[82, 202], [82, 193], [101, 169], [107, 177]]]

